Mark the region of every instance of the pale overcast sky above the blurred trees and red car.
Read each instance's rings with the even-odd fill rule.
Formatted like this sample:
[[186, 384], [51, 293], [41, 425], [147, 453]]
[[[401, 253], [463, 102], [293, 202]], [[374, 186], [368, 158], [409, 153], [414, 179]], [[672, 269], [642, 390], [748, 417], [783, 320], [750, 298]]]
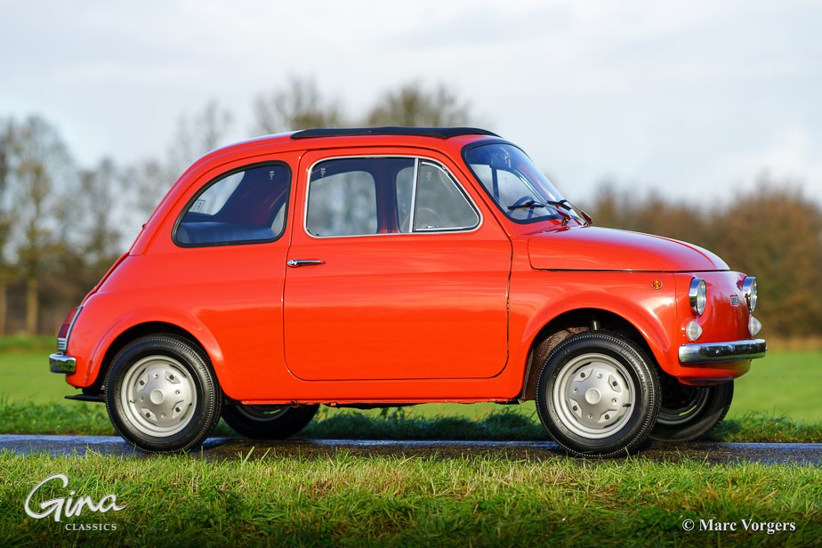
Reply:
[[822, 202], [822, 3], [0, 0], [0, 117], [77, 160], [164, 157], [216, 100], [313, 77], [351, 117], [444, 84], [572, 200], [600, 181], [733, 199], [764, 170]]

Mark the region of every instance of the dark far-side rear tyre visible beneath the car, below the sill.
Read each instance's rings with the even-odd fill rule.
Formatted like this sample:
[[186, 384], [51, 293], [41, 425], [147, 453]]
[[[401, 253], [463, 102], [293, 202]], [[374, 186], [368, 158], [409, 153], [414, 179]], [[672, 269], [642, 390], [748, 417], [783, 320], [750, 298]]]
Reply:
[[317, 415], [319, 406], [223, 406], [222, 418], [238, 434], [251, 439], [286, 439]]

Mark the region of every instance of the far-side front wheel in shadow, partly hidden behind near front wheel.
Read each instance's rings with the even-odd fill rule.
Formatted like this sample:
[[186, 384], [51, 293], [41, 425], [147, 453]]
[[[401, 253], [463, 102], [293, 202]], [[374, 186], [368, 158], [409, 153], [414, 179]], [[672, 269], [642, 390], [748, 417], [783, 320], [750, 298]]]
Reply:
[[657, 441], [702, 438], [722, 422], [733, 399], [733, 381], [714, 386], [688, 386], [665, 375], [662, 405], [650, 438]]

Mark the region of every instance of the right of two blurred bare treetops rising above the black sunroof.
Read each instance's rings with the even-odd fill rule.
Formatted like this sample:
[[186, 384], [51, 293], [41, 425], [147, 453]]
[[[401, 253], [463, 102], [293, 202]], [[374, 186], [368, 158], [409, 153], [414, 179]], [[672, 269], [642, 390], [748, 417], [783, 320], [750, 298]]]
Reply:
[[366, 117], [367, 125], [449, 126], [467, 125], [470, 109], [444, 85], [426, 91], [411, 83], [388, 92]]

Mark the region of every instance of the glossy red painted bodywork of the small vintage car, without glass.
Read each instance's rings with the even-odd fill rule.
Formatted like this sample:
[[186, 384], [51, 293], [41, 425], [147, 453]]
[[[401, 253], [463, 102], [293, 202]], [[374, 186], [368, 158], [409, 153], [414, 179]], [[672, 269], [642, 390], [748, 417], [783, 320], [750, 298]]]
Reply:
[[[567, 327], [560, 319], [577, 310], [622, 318], [659, 367], [683, 382], [721, 382], [747, 371], [750, 360], [686, 367], [677, 355], [689, 342], [695, 276], [705, 278], [710, 295], [698, 318], [700, 342], [749, 338], [745, 306], [729, 305], [729, 295], [741, 296], [743, 274], [666, 238], [574, 221], [510, 221], [463, 164], [463, 147], [488, 139], [275, 135], [203, 157], [85, 298], [69, 339], [67, 353], [77, 359], [69, 384], [99, 386], [129, 333], [173, 326], [202, 346], [225, 394], [246, 403], [505, 401], [525, 394], [529, 356], [546, 326]], [[311, 237], [303, 228], [310, 166], [360, 156], [444, 165], [477, 206], [479, 228]], [[293, 174], [282, 238], [215, 247], [173, 242], [174, 224], [199, 189], [262, 161], [283, 162]], [[289, 269], [290, 259], [326, 264]], [[654, 289], [657, 280], [662, 286]]]

